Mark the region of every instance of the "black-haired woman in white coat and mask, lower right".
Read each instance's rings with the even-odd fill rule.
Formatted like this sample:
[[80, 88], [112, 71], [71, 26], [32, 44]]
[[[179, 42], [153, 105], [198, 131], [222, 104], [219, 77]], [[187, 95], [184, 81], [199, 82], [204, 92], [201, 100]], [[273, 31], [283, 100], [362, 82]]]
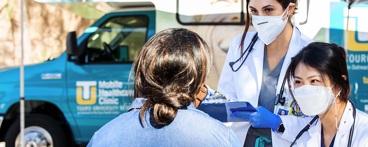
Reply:
[[368, 147], [368, 114], [354, 109], [348, 101], [346, 60], [343, 47], [320, 42], [308, 44], [291, 59], [286, 71], [290, 93], [305, 115], [319, 116], [297, 140], [298, 147], [346, 147], [354, 111], [351, 146]]

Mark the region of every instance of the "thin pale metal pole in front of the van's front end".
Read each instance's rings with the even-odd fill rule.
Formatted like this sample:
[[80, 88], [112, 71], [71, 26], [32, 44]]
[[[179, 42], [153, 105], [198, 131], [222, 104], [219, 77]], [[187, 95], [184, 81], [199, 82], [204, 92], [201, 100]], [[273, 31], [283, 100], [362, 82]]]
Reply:
[[24, 65], [23, 65], [23, 0], [21, 0], [21, 67], [20, 67], [21, 147], [24, 147]]

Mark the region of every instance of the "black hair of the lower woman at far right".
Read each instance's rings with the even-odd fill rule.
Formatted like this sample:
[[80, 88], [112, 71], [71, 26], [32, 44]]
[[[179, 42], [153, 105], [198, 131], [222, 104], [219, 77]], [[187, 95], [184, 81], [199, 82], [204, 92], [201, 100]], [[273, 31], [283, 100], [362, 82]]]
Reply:
[[[295, 57], [291, 58], [286, 71], [291, 96], [294, 98], [292, 86], [294, 85], [295, 68], [299, 64], [304, 64], [319, 72], [325, 86], [327, 85], [326, 79], [329, 79], [334, 84], [335, 94], [341, 90], [340, 101], [347, 102], [350, 97], [350, 85], [346, 61], [346, 50], [335, 43], [313, 42], [308, 44]], [[346, 80], [342, 75], [346, 76]]]

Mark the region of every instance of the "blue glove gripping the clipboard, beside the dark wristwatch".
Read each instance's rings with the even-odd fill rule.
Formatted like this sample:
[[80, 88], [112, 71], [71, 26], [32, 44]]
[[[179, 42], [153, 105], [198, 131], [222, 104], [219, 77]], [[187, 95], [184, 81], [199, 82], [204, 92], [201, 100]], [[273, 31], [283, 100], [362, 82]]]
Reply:
[[231, 108], [230, 111], [233, 113], [230, 114], [230, 117], [247, 119], [254, 128], [270, 128], [272, 131], [276, 131], [281, 122], [280, 116], [262, 106], [255, 109], [258, 111], [241, 111], [238, 108]]

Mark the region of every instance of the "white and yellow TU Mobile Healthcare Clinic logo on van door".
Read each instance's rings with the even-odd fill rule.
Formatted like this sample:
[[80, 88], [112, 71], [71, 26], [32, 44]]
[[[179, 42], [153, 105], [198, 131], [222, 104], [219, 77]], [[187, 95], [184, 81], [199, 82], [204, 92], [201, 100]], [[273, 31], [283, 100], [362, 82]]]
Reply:
[[77, 114], [121, 114], [128, 110], [128, 90], [119, 80], [77, 81]]

